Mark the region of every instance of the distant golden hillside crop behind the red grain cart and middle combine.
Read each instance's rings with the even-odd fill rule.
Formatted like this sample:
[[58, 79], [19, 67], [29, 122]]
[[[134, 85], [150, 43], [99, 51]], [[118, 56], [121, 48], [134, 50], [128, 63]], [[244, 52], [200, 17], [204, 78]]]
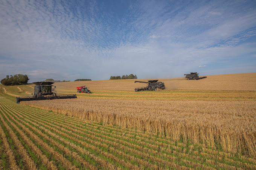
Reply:
[[[200, 76], [201, 77], [201, 76]], [[256, 90], [256, 73], [207, 75], [201, 80], [187, 81], [185, 78], [169, 79], [138, 79], [139, 81], [159, 80], [163, 81], [166, 90]], [[136, 87], [143, 87], [145, 83], [134, 83], [134, 80], [100, 80], [100, 81], [73, 81], [54, 83], [59, 92], [72, 90], [76, 92], [78, 86], [88, 86], [90, 90], [122, 90], [134, 91]]]

